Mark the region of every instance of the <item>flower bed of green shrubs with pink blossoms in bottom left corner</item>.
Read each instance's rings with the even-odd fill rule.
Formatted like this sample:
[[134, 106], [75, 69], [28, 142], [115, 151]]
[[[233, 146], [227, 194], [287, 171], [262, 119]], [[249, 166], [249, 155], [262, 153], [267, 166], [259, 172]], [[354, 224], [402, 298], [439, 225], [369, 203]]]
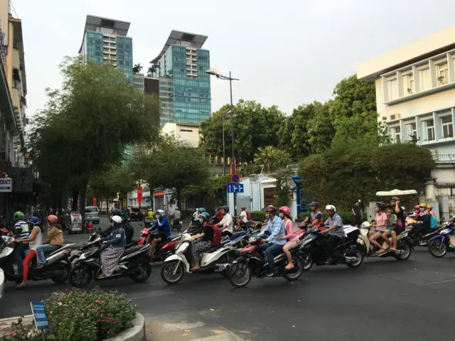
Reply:
[[[73, 289], [53, 293], [45, 301], [45, 313], [50, 325], [45, 334], [46, 340], [95, 341], [105, 340], [131, 328], [136, 307], [117, 291]], [[21, 329], [16, 325], [16, 329], [1, 337], [0, 341], [38, 340], [36, 335], [24, 338]]]

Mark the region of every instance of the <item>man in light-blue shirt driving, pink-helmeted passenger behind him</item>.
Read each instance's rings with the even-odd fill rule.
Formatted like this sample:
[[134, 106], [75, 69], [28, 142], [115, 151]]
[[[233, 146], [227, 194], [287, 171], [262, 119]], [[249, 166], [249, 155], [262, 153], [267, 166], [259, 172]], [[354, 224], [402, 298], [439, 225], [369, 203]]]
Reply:
[[287, 240], [277, 240], [277, 237], [284, 237], [286, 233], [284, 232], [283, 221], [280, 217], [277, 216], [277, 208], [269, 205], [265, 208], [265, 217], [267, 217], [268, 223], [267, 227], [258, 234], [257, 237], [264, 237], [265, 232], [269, 232], [269, 237], [267, 239], [262, 239], [259, 245], [259, 249], [265, 253], [267, 256], [267, 269], [266, 276], [273, 276], [275, 273], [274, 269], [274, 258], [278, 256], [283, 251], [283, 246], [286, 244]]

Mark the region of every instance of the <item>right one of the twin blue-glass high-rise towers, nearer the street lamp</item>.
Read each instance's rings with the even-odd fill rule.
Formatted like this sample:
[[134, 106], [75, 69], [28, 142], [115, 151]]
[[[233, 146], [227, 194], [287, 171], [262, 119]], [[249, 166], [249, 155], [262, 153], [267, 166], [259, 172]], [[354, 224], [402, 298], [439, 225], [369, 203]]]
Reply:
[[159, 79], [160, 123], [199, 124], [211, 114], [210, 52], [202, 46], [207, 36], [172, 31], [161, 53], [151, 63]]

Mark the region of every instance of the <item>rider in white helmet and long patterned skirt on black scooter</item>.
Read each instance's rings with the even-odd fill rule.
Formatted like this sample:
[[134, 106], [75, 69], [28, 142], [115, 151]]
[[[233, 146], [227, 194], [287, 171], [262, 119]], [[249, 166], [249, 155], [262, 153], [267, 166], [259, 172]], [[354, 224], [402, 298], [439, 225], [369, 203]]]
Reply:
[[117, 263], [123, 254], [124, 247], [127, 245], [127, 237], [122, 227], [122, 218], [118, 215], [112, 217], [113, 230], [109, 236], [102, 240], [101, 252], [101, 270], [102, 274], [98, 278], [109, 277], [117, 268]]

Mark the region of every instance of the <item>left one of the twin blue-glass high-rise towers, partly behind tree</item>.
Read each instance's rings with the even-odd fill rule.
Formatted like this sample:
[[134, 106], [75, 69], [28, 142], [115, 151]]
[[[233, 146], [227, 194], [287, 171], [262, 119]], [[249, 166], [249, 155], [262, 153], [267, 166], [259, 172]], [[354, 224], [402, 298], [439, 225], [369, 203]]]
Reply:
[[97, 63], [112, 63], [133, 82], [133, 40], [127, 21], [87, 16], [79, 53]]

